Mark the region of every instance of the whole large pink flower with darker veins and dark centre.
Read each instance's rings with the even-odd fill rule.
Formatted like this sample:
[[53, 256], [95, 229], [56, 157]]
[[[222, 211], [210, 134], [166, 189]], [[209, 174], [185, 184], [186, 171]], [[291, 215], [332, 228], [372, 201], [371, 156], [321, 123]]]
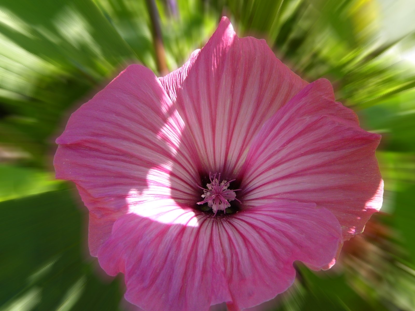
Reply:
[[[89, 247], [144, 310], [241, 310], [334, 264], [381, 207], [380, 136], [227, 18], [183, 67], [132, 65], [56, 140]], [[237, 191], [238, 190], [238, 191]]]

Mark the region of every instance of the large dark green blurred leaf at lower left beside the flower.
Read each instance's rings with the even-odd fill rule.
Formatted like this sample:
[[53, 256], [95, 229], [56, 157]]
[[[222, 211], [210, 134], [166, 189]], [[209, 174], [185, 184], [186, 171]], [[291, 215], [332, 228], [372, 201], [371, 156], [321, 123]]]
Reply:
[[0, 310], [120, 309], [119, 281], [98, 276], [86, 249], [87, 217], [72, 196], [61, 190], [0, 202], [0, 265], [7, 267]]

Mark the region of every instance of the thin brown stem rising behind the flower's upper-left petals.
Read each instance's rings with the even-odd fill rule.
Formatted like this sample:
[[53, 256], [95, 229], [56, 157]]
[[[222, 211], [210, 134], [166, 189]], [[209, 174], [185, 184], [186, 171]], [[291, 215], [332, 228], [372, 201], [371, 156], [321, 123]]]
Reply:
[[168, 73], [166, 54], [164, 53], [163, 36], [161, 35], [160, 16], [154, 0], [146, 0], [151, 20], [151, 34], [153, 35], [154, 51], [156, 52], [156, 65], [159, 74]]

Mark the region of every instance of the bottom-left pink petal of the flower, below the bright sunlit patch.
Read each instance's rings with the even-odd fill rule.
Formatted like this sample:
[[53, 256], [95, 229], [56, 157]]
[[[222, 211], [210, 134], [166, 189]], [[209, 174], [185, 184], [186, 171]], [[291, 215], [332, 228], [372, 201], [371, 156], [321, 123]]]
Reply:
[[98, 260], [109, 275], [125, 274], [128, 301], [144, 310], [207, 311], [230, 299], [223, 255], [215, 248], [217, 224], [196, 219], [198, 226], [134, 213], [117, 220]]

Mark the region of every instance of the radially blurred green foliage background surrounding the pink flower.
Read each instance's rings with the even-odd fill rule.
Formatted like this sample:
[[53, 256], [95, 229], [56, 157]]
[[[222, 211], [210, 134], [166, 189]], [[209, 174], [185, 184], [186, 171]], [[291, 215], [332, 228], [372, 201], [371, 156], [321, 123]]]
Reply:
[[413, 0], [0, 0], [0, 311], [135, 309], [88, 253], [54, 139], [128, 64], [180, 67], [222, 15], [305, 80], [328, 78], [382, 134], [381, 213], [331, 270], [297, 265], [293, 287], [255, 310], [415, 310]]

